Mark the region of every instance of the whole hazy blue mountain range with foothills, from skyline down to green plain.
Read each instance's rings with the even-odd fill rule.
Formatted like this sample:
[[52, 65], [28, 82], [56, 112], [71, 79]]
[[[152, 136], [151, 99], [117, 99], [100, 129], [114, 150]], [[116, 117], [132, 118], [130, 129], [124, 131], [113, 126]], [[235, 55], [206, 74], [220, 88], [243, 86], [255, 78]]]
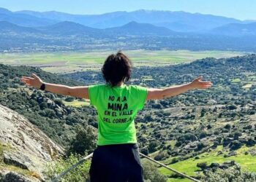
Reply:
[[189, 12], [11, 12], [0, 8], [0, 52], [84, 49], [255, 51], [255, 20]]

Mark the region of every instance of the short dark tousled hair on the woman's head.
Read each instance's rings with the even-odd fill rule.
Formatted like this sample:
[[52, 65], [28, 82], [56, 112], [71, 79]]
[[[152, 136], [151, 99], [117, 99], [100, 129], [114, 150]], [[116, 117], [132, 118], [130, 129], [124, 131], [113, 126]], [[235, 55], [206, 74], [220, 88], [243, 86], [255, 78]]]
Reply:
[[102, 66], [102, 74], [105, 81], [112, 87], [119, 82], [128, 82], [132, 74], [132, 62], [121, 51], [109, 55]]

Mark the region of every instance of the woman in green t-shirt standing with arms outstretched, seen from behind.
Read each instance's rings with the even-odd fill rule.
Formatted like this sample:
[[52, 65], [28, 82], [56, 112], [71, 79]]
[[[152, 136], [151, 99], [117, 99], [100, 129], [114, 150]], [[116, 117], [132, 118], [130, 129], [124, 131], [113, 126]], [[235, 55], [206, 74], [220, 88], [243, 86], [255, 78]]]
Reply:
[[189, 84], [166, 89], [126, 85], [132, 63], [122, 52], [110, 55], [102, 67], [106, 84], [69, 87], [42, 82], [37, 75], [22, 77], [32, 87], [62, 95], [86, 98], [97, 108], [98, 143], [91, 161], [91, 182], [143, 181], [134, 119], [146, 100], [173, 97], [188, 90], [207, 89], [211, 82], [202, 77]]

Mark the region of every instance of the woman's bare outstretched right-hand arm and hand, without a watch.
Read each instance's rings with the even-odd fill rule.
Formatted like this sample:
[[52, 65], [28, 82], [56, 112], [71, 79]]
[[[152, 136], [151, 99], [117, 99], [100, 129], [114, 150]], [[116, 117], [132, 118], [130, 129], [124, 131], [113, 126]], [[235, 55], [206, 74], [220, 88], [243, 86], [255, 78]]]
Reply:
[[198, 77], [189, 84], [168, 87], [166, 89], [148, 89], [147, 100], [169, 98], [194, 89], [207, 89], [212, 86], [211, 82], [203, 82], [203, 76]]

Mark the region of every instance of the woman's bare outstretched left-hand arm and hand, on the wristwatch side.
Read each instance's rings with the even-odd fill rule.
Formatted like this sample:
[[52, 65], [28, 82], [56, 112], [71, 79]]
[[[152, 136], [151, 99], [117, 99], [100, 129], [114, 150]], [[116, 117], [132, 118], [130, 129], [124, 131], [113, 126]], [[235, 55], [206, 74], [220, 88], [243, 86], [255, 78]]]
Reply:
[[36, 74], [32, 74], [32, 77], [23, 76], [21, 81], [26, 85], [39, 89], [42, 84], [45, 84], [45, 90], [61, 95], [70, 95], [76, 98], [89, 98], [88, 87], [69, 87], [63, 84], [50, 84], [42, 82]]

